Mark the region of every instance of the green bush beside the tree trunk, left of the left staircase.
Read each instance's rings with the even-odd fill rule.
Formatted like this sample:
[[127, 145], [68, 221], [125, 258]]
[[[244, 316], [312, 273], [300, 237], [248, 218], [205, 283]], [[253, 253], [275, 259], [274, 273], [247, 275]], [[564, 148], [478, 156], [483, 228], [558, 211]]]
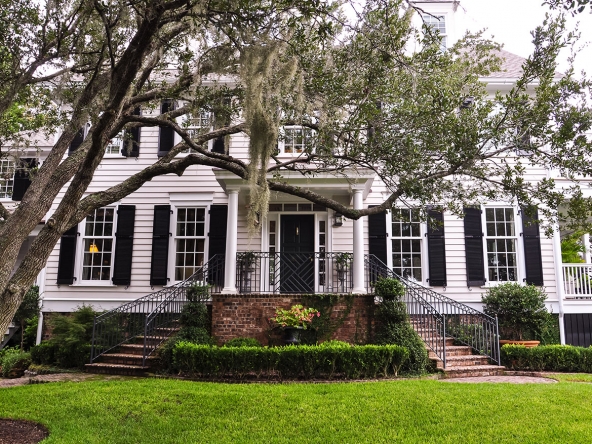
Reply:
[[52, 338], [31, 348], [33, 362], [61, 368], [84, 368], [84, 364], [90, 361], [96, 314], [91, 306], [83, 305], [70, 316], [58, 315], [51, 319]]

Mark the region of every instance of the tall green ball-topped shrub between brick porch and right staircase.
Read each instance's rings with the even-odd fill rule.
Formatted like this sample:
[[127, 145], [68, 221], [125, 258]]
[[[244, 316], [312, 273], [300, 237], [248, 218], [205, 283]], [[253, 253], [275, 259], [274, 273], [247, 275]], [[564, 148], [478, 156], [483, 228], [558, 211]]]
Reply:
[[405, 303], [401, 300], [405, 287], [396, 279], [381, 278], [375, 285], [376, 295], [382, 302], [376, 307], [377, 344], [396, 344], [409, 350], [409, 359], [401, 373], [421, 374], [427, 371], [428, 353], [423, 340], [409, 323]]

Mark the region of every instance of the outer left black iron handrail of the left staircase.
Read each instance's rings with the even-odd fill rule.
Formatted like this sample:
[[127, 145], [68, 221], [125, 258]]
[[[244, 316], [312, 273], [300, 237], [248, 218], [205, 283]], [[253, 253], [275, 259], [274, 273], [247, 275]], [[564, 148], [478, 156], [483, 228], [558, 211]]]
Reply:
[[90, 356], [91, 364], [99, 356], [145, 333], [149, 315], [155, 310], [163, 310], [163, 307], [166, 307], [169, 303], [168, 301], [178, 293], [185, 294], [185, 287], [193, 282], [207, 282], [211, 284], [210, 293], [220, 292], [223, 286], [223, 268], [224, 256], [214, 255], [184, 281], [95, 316]]

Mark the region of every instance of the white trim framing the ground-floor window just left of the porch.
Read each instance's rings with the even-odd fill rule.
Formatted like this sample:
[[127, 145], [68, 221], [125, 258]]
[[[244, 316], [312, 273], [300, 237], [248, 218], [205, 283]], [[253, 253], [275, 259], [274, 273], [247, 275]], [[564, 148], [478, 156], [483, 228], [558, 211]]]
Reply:
[[209, 250], [210, 250], [210, 207], [213, 205], [213, 194], [212, 193], [179, 193], [171, 194], [169, 196], [171, 204], [171, 219], [169, 224], [169, 256], [167, 264], [167, 275], [169, 281], [165, 287], [177, 284], [182, 281], [175, 280], [175, 261], [176, 261], [176, 249], [175, 240], [177, 232], [177, 211], [179, 208], [204, 208], [205, 219], [204, 219], [204, 264], [208, 261]]

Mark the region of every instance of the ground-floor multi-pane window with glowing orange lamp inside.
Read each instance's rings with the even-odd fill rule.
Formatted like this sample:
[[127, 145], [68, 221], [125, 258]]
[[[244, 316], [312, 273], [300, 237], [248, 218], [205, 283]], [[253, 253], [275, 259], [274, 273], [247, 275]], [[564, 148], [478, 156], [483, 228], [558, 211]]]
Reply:
[[82, 234], [82, 281], [111, 282], [115, 208], [98, 208], [86, 217]]

